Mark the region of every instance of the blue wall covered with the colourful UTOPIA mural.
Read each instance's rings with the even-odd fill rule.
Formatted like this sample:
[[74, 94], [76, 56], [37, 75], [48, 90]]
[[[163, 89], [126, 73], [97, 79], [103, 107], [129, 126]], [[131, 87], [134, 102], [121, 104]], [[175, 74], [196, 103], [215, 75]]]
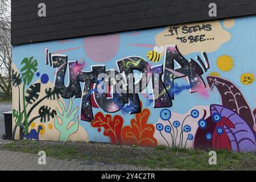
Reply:
[[[15, 46], [14, 137], [255, 152], [255, 21]], [[139, 93], [113, 93], [129, 73]]]

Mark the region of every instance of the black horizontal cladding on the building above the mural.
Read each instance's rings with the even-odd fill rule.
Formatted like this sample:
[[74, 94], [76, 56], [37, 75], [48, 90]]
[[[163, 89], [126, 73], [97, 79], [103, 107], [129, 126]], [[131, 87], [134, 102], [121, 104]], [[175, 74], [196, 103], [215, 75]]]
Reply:
[[[13, 45], [256, 13], [256, 0], [12, 0]], [[216, 3], [217, 17], [208, 15]]]

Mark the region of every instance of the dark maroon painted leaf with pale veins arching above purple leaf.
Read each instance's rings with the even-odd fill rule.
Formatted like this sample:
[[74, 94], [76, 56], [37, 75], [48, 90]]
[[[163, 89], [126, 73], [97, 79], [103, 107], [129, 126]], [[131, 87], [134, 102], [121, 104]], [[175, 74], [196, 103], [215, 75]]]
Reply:
[[240, 90], [232, 82], [220, 77], [208, 76], [207, 81], [211, 89], [216, 86], [218, 92], [220, 92], [222, 106], [239, 114], [253, 130], [254, 117]]

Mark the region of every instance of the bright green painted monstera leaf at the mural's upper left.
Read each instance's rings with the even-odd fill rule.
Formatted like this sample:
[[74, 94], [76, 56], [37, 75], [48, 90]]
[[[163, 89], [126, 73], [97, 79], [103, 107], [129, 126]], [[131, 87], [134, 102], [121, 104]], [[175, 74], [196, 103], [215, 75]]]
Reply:
[[35, 72], [38, 70], [38, 61], [34, 57], [24, 58], [21, 62], [21, 65], [24, 66], [20, 69], [22, 72], [23, 82], [26, 85], [30, 85], [32, 79], [34, 78]]

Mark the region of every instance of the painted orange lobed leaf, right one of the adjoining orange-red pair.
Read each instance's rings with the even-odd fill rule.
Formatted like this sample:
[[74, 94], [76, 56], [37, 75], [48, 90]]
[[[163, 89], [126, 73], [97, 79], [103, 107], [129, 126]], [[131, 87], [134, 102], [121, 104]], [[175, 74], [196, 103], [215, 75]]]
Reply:
[[141, 113], [135, 114], [135, 119], [131, 119], [131, 126], [123, 127], [123, 143], [141, 146], [157, 146], [157, 140], [153, 136], [155, 127], [147, 123], [149, 115], [150, 110], [148, 109], [143, 109]]

